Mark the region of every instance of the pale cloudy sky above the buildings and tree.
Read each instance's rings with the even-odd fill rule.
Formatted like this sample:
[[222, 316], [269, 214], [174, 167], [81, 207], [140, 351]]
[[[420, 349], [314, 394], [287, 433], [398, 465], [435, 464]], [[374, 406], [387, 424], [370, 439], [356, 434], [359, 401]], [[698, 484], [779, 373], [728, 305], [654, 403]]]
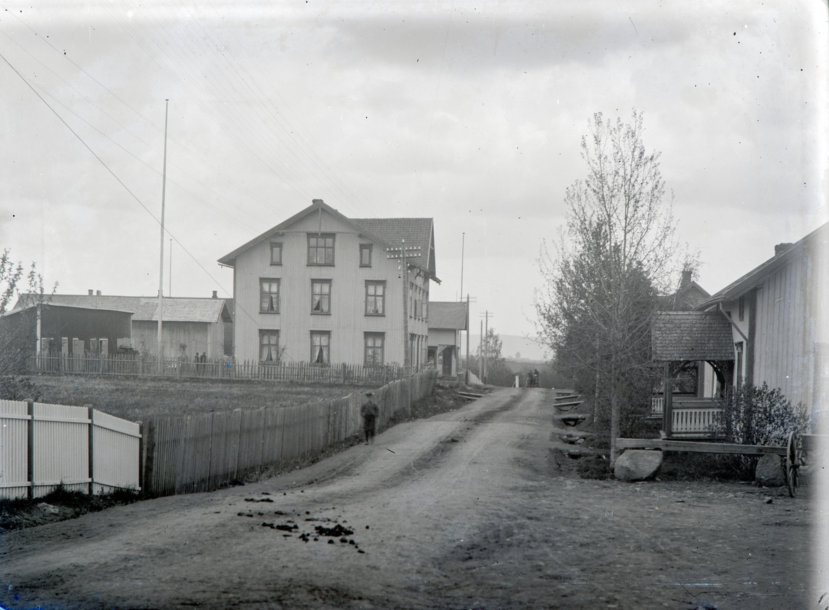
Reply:
[[58, 291], [232, 291], [322, 198], [434, 218], [432, 300], [533, 334], [593, 113], [644, 114], [714, 292], [827, 221], [827, 5], [0, 0], [0, 247]]

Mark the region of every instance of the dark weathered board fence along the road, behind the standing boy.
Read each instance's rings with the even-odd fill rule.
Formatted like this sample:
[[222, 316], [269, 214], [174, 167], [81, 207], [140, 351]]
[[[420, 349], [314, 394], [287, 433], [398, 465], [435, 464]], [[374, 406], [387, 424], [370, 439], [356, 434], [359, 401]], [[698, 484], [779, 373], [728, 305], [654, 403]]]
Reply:
[[[375, 391], [383, 426], [434, 389], [434, 370]], [[144, 424], [143, 487], [152, 495], [206, 492], [269, 464], [312, 454], [361, 431], [362, 394], [301, 406], [157, 417]]]

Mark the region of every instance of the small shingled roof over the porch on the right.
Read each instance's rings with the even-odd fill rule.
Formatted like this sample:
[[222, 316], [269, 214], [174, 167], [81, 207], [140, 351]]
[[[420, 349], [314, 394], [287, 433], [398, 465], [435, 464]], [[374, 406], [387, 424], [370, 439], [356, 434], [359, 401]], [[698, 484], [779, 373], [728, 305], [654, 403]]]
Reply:
[[651, 329], [651, 358], [734, 360], [731, 323], [720, 311], [662, 311]]

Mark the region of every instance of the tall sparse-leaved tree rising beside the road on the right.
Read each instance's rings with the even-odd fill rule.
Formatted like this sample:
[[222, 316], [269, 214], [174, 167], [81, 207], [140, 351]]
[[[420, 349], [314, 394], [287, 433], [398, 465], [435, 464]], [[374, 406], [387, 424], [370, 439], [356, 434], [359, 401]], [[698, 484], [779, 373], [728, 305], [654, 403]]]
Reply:
[[556, 368], [606, 406], [613, 462], [623, 422], [634, 407], [644, 408], [652, 389], [650, 329], [657, 294], [675, 275], [677, 245], [672, 199], [659, 153], [648, 154], [642, 143], [641, 113], [629, 124], [594, 114], [581, 151], [587, 177], [565, 192], [555, 256], [542, 246], [536, 310]]

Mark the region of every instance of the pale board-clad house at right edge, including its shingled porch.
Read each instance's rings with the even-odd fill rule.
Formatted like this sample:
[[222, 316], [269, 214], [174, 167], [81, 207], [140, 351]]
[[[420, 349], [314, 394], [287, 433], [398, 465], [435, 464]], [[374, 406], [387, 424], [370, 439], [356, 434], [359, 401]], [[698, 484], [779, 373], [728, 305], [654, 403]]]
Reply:
[[[706, 388], [709, 384], [701, 378], [695, 392], [706, 413], [671, 412], [675, 410], [671, 402], [686, 411], [696, 404], [693, 399], [666, 401], [668, 437], [705, 435], [705, 420], [713, 415], [707, 411], [716, 410], [715, 402], [744, 383], [779, 388], [793, 405], [806, 406], [810, 415], [827, 410], [827, 265], [829, 223], [797, 243], [778, 244], [773, 257], [695, 304], [694, 313], [675, 310], [657, 316], [652, 339], [655, 360], [665, 362], [668, 371], [696, 361], [707, 363], [700, 364], [700, 371], [705, 367], [717, 373], [714, 390]], [[688, 425], [682, 422], [693, 430], [686, 430]]]

